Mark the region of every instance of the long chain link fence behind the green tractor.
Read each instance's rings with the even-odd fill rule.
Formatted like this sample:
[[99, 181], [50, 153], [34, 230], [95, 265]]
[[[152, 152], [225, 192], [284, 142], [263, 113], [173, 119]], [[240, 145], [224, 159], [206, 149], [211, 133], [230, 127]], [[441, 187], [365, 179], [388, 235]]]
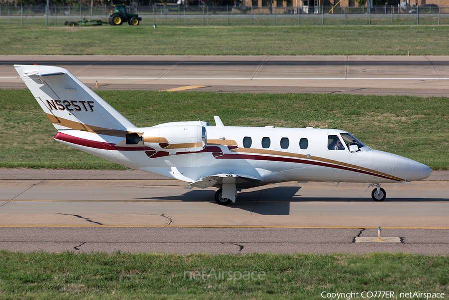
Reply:
[[[226, 25], [447, 25], [449, 7], [399, 9], [380, 7], [255, 7], [186, 6], [177, 4], [129, 6], [128, 13], [142, 17], [140, 26]], [[63, 26], [72, 21], [96, 19], [108, 22], [110, 6], [34, 7], [0, 6], [0, 26]], [[109, 24], [107, 24], [109, 26]], [[123, 24], [122, 26], [127, 26]]]

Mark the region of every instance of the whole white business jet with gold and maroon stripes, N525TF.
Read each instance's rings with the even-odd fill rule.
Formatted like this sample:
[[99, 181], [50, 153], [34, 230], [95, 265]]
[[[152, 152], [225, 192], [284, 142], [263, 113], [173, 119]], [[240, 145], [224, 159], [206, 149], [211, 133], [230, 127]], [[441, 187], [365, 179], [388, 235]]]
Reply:
[[[69, 71], [54, 66], [14, 65], [58, 133], [56, 141], [109, 161], [186, 181], [186, 188], [216, 187], [221, 205], [237, 191], [298, 181], [381, 183], [425, 179], [419, 162], [364, 145], [336, 129], [225, 126], [171, 122], [136, 127]], [[367, 190], [368, 190], [367, 188]]]

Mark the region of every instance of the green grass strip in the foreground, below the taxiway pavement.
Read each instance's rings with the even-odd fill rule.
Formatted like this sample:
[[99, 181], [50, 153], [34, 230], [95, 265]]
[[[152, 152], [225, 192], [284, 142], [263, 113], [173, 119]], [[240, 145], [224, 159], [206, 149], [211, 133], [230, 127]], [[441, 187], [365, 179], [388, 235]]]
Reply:
[[[0, 300], [318, 300], [323, 299], [322, 292], [364, 291], [447, 295], [448, 266], [448, 256], [413, 254], [212, 256], [0, 251]], [[209, 275], [213, 270], [216, 274], [226, 272], [225, 279], [212, 275], [193, 280], [189, 273], [184, 277], [186, 272]], [[237, 280], [238, 272], [245, 271], [264, 272], [265, 276]], [[228, 280], [227, 272], [237, 272], [236, 280]]]

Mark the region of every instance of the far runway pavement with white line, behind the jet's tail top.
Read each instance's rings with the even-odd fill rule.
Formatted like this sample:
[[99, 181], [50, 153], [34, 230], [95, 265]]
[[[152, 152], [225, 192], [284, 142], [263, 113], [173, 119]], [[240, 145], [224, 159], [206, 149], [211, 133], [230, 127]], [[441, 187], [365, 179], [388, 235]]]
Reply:
[[33, 63], [93, 89], [449, 96], [449, 56], [0, 56], [0, 88]]

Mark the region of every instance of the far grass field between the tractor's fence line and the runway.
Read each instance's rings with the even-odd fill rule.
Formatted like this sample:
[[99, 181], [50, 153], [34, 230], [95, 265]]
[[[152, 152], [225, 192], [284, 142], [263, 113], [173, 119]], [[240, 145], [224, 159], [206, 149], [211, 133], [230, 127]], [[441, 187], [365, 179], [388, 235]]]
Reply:
[[449, 35], [449, 26], [153, 29], [149, 24], [71, 28], [0, 23], [0, 30], [0, 55], [447, 55]]

